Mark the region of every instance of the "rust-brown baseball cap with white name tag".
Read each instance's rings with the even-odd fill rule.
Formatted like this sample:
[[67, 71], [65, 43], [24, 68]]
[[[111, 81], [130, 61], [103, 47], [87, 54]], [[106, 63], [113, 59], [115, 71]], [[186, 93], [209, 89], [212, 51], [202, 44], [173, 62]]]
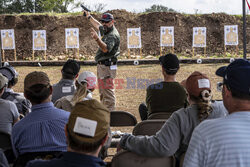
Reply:
[[187, 78], [186, 89], [189, 95], [199, 97], [203, 90], [211, 91], [211, 84], [205, 74], [195, 71]]

